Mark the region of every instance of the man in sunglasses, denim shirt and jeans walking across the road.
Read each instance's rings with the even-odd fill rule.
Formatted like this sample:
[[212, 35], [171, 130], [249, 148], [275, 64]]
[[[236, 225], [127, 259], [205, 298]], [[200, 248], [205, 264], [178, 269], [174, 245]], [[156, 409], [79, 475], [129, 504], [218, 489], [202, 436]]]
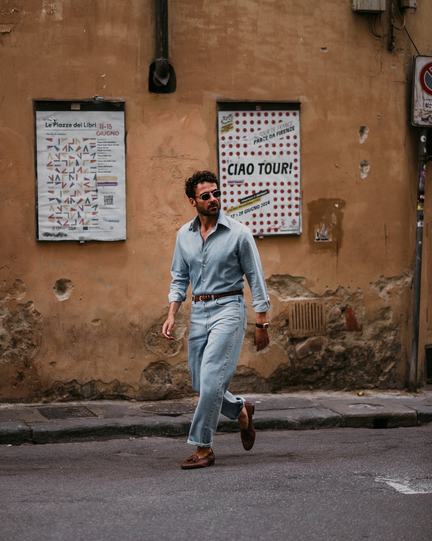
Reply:
[[177, 234], [168, 295], [170, 311], [162, 334], [174, 340], [171, 329], [191, 282], [188, 364], [199, 401], [187, 443], [197, 446], [197, 450], [181, 467], [192, 469], [214, 463], [211, 447], [220, 413], [239, 420], [241, 441], [247, 451], [254, 444], [254, 406], [227, 391], [247, 325], [244, 275], [253, 296], [252, 308], [257, 313], [254, 337], [257, 351], [269, 344], [266, 315], [270, 302], [252, 233], [220, 212], [221, 193], [216, 175], [197, 171], [186, 180], [185, 188], [198, 215]]

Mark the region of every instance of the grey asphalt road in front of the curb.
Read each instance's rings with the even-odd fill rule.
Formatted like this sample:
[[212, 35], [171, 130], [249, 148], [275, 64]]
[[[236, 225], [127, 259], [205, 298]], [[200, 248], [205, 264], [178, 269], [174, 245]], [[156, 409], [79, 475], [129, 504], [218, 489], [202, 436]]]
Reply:
[[432, 427], [0, 447], [5, 541], [430, 541]]

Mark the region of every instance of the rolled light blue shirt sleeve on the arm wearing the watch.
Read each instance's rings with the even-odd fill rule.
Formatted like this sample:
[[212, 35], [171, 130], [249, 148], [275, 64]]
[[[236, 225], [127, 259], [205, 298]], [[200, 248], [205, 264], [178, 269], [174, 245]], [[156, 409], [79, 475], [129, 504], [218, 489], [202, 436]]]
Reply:
[[246, 227], [242, 228], [239, 236], [239, 259], [247, 283], [251, 288], [252, 308], [255, 312], [267, 312], [270, 308], [270, 299], [267, 295], [260, 255], [253, 235]]

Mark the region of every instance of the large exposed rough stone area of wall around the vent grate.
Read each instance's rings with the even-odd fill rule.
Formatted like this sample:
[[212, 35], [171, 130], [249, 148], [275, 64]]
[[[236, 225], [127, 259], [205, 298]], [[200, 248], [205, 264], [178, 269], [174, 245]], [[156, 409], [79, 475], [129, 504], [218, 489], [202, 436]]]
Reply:
[[[392, 282], [392, 286], [388, 284]], [[385, 288], [401, 288], [409, 281], [396, 277], [381, 280]], [[381, 284], [380, 282], [380, 284]], [[287, 301], [304, 291], [303, 279], [295, 276], [271, 276], [269, 291]], [[349, 292], [343, 287], [323, 295], [326, 301], [327, 335], [306, 339], [289, 338], [287, 312], [272, 320], [272, 339], [283, 348], [288, 361], [268, 378], [271, 390], [292, 388], [403, 388], [404, 381], [395, 370], [401, 359], [401, 324], [393, 322], [391, 307], [383, 307], [374, 321], [367, 320], [360, 289]]]

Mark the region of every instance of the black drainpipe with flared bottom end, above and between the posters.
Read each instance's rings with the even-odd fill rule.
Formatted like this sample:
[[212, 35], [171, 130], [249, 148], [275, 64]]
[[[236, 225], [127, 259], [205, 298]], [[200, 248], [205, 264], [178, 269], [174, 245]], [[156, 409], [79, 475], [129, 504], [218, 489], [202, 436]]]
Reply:
[[168, 0], [155, 0], [156, 61], [150, 64], [149, 92], [172, 94], [176, 73], [168, 60]]

